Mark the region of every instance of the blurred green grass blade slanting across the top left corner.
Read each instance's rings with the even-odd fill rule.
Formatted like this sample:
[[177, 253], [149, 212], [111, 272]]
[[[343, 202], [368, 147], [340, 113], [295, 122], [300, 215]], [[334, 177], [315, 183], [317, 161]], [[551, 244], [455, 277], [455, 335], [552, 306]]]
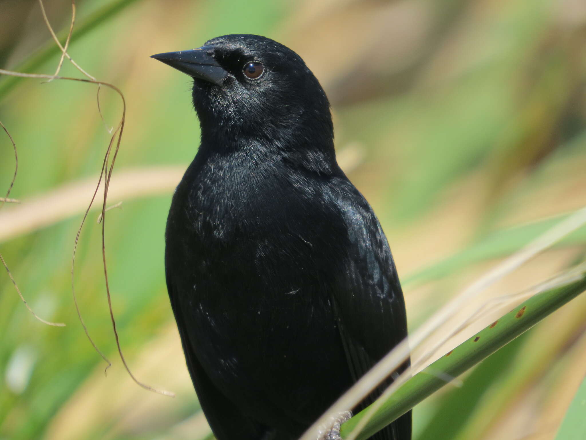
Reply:
[[[113, 0], [104, 6], [101, 6], [97, 11], [87, 16], [87, 18], [79, 23], [79, 25], [75, 26], [69, 44], [72, 45], [88, 32], [93, 31], [93, 29], [97, 28], [101, 23], [107, 22], [126, 8], [126, 6], [131, 5], [135, 1], [137, 0]], [[67, 32], [69, 32], [69, 26], [67, 29], [57, 32], [59, 40], [64, 41], [67, 38]], [[39, 73], [36, 72], [36, 69], [58, 53], [60, 53], [59, 47], [52, 39], [49, 39], [43, 46], [33, 53], [33, 55], [28, 57], [28, 59], [20, 65], [16, 66], [14, 70], [21, 73]], [[18, 76], [3, 77], [2, 80], [0, 80], [0, 101], [2, 101], [2, 99], [4, 99], [22, 79], [22, 77]]]

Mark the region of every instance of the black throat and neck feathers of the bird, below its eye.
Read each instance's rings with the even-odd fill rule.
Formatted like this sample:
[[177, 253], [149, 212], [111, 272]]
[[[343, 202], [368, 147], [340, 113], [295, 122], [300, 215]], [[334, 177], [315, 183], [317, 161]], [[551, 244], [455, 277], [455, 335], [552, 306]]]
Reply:
[[[295, 100], [253, 103], [253, 108], [247, 108], [229, 97], [214, 96], [222, 90], [207, 92], [202, 96], [194, 87], [193, 101], [201, 127], [200, 160], [226, 155], [250, 161], [271, 157], [318, 174], [332, 175], [339, 170], [329, 103], [323, 91], [323, 97], [314, 96], [305, 108]], [[262, 108], [255, 109], [254, 104]]]

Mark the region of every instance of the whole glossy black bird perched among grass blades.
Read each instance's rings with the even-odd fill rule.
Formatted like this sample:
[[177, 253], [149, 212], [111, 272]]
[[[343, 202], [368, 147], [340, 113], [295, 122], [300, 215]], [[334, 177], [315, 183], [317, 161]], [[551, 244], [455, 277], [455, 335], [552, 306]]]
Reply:
[[[165, 249], [197, 396], [218, 440], [297, 439], [407, 336], [389, 245], [297, 53], [224, 35], [152, 57], [193, 77], [201, 126]], [[372, 438], [409, 440], [411, 414]]]

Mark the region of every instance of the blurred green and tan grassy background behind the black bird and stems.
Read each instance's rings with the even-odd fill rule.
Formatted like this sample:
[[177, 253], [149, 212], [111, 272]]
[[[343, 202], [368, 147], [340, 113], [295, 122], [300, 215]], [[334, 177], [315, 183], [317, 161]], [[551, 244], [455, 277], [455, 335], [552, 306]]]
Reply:
[[[45, 5], [54, 28], [68, 29], [70, 1]], [[128, 104], [109, 199], [122, 205], [106, 222], [113, 307], [135, 375], [177, 397], [137, 387], [117, 357], [95, 210], [75, 283], [88, 330], [113, 361], [107, 377], [71, 297], [74, 238], [110, 137], [96, 86], [26, 79], [2, 89], [2, 76], [0, 120], [19, 153], [12, 197], [22, 203], [0, 210], [0, 252], [33, 310], [67, 324], [36, 321], [0, 276], [2, 440], [210, 435], [163, 273], [166, 214], [199, 127], [188, 77], [153, 53], [257, 33], [304, 58], [331, 100], [340, 165], [391, 243], [412, 329], [499, 258], [586, 205], [583, 0], [78, 0], [77, 31], [108, 5], [119, 8], [69, 53], [120, 87]], [[18, 70], [49, 39], [37, 1], [0, 2], [1, 68]], [[58, 62], [56, 53], [35, 72], [53, 73]], [[81, 76], [69, 63], [62, 75]], [[120, 98], [103, 89], [101, 105], [115, 126]], [[0, 188], [13, 170], [2, 133]], [[483, 300], [518, 293], [585, 253], [582, 228]], [[510, 308], [486, 314], [442, 350]], [[578, 298], [465, 375], [462, 387], [418, 405], [414, 439], [553, 439], [586, 370], [585, 312]]]

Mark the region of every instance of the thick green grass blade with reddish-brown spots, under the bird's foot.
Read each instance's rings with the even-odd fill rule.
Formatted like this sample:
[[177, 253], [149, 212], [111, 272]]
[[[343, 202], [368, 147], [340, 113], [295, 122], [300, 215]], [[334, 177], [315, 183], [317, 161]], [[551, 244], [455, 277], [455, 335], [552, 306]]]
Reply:
[[[586, 290], [586, 271], [581, 272], [578, 279], [574, 278], [566, 285], [541, 292], [515, 307], [398, 388], [373, 415], [357, 436], [357, 440], [369, 438], [443, 387], [446, 382], [440, 376], [458, 377], [584, 290]], [[356, 427], [367, 411], [369, 408], [359, 412], [342, 425], [342, 437], [347, 436]]]

